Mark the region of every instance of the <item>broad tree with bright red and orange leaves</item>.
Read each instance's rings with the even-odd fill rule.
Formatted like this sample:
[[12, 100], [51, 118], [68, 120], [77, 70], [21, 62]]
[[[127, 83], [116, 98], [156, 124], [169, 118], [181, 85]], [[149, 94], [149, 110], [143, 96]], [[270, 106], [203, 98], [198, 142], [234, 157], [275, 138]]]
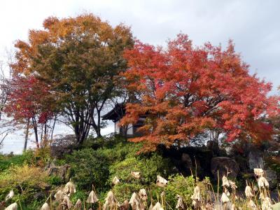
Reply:
[[232, 41], [225, 50], [211, 43], [194, 47], [179, 34], [167, 49], [138, 42], [125, 58], [127, 88], [140, 102], [127, 104], [122, 123], [147, 116], [139, 128], [144, 136], [132, 139], [143, 141], [146, 149], [180, 146], [207, 131], [227, 141], [259, 142], [272, 136], [272, 127], [261, 118], [279, 111], [278, 99], [267, 96], [271, 83], [248, 73]]

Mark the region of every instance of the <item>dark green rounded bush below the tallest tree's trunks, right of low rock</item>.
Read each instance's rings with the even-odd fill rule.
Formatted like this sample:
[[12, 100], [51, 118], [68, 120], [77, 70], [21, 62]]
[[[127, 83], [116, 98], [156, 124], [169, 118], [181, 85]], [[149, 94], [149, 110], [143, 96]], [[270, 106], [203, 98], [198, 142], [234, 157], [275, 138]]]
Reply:
[[71, 166], [69, 176], [80, 190], [91, 190], [92, 183], [97, 190], [106, 188], [109, 163], [102, 153], [85, 148], [67, 155], [66, 162]]

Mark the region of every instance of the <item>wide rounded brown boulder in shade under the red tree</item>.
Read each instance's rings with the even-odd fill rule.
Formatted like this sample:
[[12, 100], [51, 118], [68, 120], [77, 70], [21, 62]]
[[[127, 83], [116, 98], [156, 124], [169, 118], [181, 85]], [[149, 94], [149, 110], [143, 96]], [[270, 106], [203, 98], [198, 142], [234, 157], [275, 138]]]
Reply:
[[223, 175], [226, 175], [227, 172], [230, 172], [228, 176], [232, 178], [236, 178], [237, 174], [239, 173], [239, 165], [235, 160], [232, 160], [228, 157], [218, 157], [212, 158], [211, 160], [211, 173], [218, 178], [218, 174], [220, 179]]

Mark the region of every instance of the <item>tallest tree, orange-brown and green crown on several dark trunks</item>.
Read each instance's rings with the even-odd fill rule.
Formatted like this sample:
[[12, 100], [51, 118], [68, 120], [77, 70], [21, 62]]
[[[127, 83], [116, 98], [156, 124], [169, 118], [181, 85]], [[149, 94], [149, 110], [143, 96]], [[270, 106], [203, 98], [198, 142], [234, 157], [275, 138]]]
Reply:
[[92, 14], [47, 18], [43, 30], [18, 41], [14, 71], [32, 73], [50, 86], [65, 123], [81, 144], [93, 128], [101, 136], [101, 112], [116, 97], [119, 73], [125, 71], [123, 50], [133, 45], [130, 28], [111, 27]]

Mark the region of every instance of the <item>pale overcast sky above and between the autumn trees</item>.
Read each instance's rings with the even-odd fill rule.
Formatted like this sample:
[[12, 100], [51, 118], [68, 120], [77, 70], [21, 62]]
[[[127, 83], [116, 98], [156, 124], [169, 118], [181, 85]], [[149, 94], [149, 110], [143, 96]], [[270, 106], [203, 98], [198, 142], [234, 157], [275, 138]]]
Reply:
[[[0, 52], [12, 48], [17, 39], [27, 39], [29, 29], [41, 29], [50, 15], [59, 18], [83, 12], [94, 13], [111, 25], [123, 22], [134, 36], [145, 43], [165, 45], [180, 32], [188, 34], [195, 45], [210, 41], [225, 47], [233, 39], [236, 51], [251, 65], [251, 73], [280, 85], [280, 1], [0, 1]], [[69, 133], [59, 128], [58, 132]], [[113, 132], [109, 126], [104, 133]], [[1, 151], [20, 153], [22, 136], [13, 134]]]

